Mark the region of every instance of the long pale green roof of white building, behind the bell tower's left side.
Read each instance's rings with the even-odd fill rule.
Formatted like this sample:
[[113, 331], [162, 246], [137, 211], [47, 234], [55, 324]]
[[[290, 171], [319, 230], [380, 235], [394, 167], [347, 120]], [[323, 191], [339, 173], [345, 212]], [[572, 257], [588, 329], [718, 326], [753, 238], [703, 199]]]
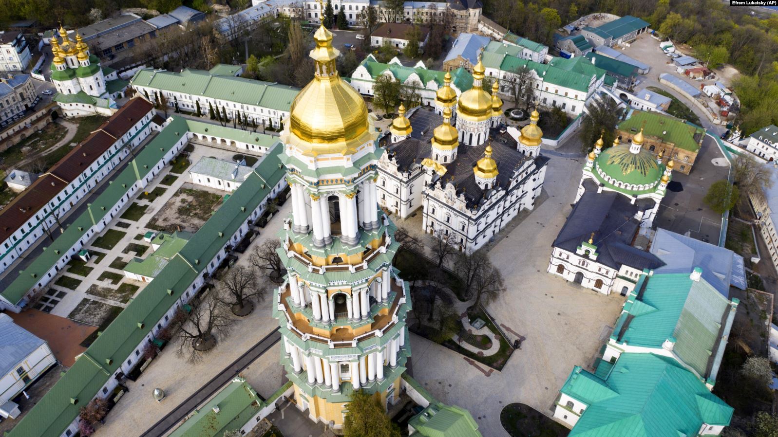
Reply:
[[289, 111], [292, 100], [300, 93], [300, 89], [293, 86], [232, 75], [212, 75], [190, 68], [180, 73], [150, 68], [138, 70], [131, 84], [282, 111]]

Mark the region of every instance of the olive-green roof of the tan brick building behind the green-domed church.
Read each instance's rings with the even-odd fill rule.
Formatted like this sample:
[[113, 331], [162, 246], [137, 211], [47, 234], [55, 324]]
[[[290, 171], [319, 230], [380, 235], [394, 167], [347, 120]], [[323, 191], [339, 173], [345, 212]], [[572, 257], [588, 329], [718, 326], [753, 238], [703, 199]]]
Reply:
[[[600, 58], [604, 57], [601, 56]], [[633, 134], [640, 131], [640, 128], [644, 128], [644, 136], [661, 138], [664, 142], [671, 142], [676, 147], [689, 152], [699, 152], [699, 144], [705, 136], [703, 128], [690, 126], [682, 120], [669, 115], [642, 110], [633, 111], [632, 115], [625, 121], [622, 121], [616, 128], [621, 131], [632, 132]], [[699, 138], [699, 140], [696, 138]]]

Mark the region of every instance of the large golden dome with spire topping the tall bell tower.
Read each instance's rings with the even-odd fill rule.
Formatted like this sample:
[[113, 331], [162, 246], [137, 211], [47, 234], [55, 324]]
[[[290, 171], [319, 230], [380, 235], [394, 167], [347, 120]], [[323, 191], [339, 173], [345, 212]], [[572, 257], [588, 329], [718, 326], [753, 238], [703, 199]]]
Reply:
[[377, 138], [362, 96], [344, 82], [335, 68], [338, 50], [332, 33], [320, 26], [314, 33], [314, 80], [297, 94], [289, 110], [289, 134], [284, 142], [306, 156], [348, 155]]

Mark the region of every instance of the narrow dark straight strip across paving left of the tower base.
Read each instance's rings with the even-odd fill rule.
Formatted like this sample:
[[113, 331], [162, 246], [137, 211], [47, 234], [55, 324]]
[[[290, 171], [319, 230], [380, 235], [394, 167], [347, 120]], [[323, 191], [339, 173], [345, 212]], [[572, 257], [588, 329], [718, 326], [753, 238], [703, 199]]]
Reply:
[[141, 436], [157, 437], [164, 435], [170, 428], [173, 428], [178, 422], [186, 418], [191, 411], [194, 411], [195, 408], [209, 400], [217, 391], [225, 386], [226, 383], [229, 383], [231, 379], [237, 376], [241, 370], [246, 369], [248, 365], [268, 351], [268, 349], [279, 340], [281, 340], [281, 333], [279, 332], [279, 328], [276, 327], [275, 330], [272, 330], [265, 338], [262, 338], [257, 344], [254, 344], [253, 348], [249, 349], [244, 355], [240, 355], [240, 358], [231, 362], [230, 365], [227, 365], [219, 375], [214, 376], [208, 383], [205, 383], [200, 390], [196, 391], [188, 397], [187, 400], [184, 400], [184, 402], [175, 407], [173, 411], [170, 411], [162, 420], [152, 425], [152, 427]]

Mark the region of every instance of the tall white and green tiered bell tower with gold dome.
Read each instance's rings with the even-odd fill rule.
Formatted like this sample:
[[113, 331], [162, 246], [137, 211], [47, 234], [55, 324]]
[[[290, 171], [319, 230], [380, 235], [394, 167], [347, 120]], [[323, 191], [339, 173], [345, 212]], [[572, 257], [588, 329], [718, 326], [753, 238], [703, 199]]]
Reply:
[[[378, 130], [338, 75], [332, 33], [321, 26], [314, 42], [314, 79], [293, 100], [280, 137], [292, 216], [280, 235], [287, 274], [273, 316], [296, 406], [338, 429], [356, 390], [387, 409], [408, 390], [412, 303], [392, 265], [396, 227], [378, 206]], [[397, 141], [412, 135], [404, 111], [392, 125]]]

